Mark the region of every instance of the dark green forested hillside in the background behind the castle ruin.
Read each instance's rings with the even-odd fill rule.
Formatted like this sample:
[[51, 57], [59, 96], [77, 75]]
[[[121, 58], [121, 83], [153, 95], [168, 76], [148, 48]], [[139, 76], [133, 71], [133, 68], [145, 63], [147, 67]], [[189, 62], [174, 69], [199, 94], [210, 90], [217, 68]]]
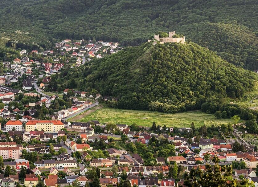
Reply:
[[257, 9], [256, 0], [1, 0], [0, 35], [44, 47], [46, 39], [82, 37], [134, 46], [157, 31], [175, 30], [253, 70], [258, 69]]

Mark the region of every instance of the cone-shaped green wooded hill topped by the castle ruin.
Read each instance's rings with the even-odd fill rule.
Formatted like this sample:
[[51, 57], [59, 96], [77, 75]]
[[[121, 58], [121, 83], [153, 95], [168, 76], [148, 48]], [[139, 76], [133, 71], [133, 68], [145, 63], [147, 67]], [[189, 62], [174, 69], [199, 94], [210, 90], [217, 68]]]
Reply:
[[51, 84], [59, 90], [95, 88], [118, 99], [112, 107], [180, 112], [208, 100], [240, 98], [256, 80], [255, 73], [195, 43], [145, 43], [61, 73]]

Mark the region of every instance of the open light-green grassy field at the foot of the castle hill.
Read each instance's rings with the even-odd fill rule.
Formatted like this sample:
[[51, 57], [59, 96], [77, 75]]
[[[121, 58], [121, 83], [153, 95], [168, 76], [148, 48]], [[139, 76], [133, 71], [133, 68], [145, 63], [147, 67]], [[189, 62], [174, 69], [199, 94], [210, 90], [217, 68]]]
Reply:
[[150, 127], [153, 121], [157, 125], [167, 127], [190, 127], [192, 122], [196, 127], [203, 124], [227, 124], [230, 119], [218, 120], [212, 114], [206, 114], [201, 111], [180, 112], [174, 114], [166, 114], [162, 112], [138, 111], [138, 110], [124, 110], [114, 108], [100, 108], [94, 112], [89, 113], [82, 119], [76, 121], [87, 122], [89, 120], [98, 120], [100, 123], [118, 123], [118, 124], [133, 124], [136, 123], [141, 126]]

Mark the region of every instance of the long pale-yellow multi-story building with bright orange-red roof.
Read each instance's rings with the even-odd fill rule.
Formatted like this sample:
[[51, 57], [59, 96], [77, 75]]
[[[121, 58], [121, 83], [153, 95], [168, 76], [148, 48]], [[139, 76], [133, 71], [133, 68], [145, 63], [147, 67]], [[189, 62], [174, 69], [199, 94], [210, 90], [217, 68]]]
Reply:
[[38, 129], [44, 132], [58, 132], [64, 128], [64, 124], [60, 120], [30, 120], [25, 125], [25, 131], [30, 132]]

